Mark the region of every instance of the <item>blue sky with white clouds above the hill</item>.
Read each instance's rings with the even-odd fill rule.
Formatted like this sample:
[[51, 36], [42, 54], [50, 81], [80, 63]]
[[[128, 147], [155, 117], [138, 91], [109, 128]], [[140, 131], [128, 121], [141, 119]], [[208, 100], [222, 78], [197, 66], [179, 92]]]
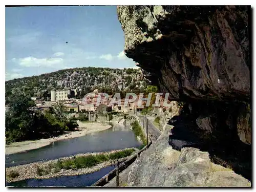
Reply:
[[116, 6], [6, 8], [6, 80], [74, 67], [135, 67], [123, 48]]

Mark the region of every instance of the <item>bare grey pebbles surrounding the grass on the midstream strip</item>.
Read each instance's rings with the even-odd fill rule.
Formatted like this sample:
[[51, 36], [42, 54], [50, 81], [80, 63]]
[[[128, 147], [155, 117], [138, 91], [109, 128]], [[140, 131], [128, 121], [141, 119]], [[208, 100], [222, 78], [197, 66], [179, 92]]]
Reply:
[[[138, 149], [137, 148], [134, 148], [134, 149], [135, 149], [134, 153], [136, 153], [136, 151], [138, 151]], [[111, 152], [101, 152], [101, 153], [77, 154], [77, 155], [75, 155], [75, 157], [97, 155], [97, 154], [106, 155], [106, 154], [120, 152], [120, 151], [123, 151], [123, 150], [115, 150], [115, 151], [111, 151]], [[74, 156], [63, 157], [63, 158], [60, 158], [59, 160], [72, 159], [73, 157]], [[131, 156], [129, 156], [129, 157], [131, 157]], [[119, 159], [119, 162], [124, 161], [129, 157], [121, 158], [121, 159]], [[110, 161], [102, 162], [100, 164], [97, 164], [97, 165], [95, 165], [93, 167], [89, 167], [89, 168], [80, 168], [77, 170], [76, 169], [61, 169], [57, 173], [49, 173], [47, 175], [42, 175], [42, 176], [37, 175], [37, 167], [38, 166], [45, 167], [45, 166], [47, 166], [51, 163], [55, 163], [57, 161], [58, 161], [58, 159], [8, 167], [8, 168], [6, 168], [6, 182], [10, 183], [10, 182], [22, 181], [22, 180], [26, 180], [26, 179], [49, 179], [49, 178], [55, 178], [55, 177], [61, 177], [61, 176], [84, 175], [84, 174], [97, 172], [101, 168], [111, 166], [114, 164], [114, 160], [110, 160]], [[19, 174], [19, 176], [15, 177], [15, 178], [8, 177], [8, 175], [11, 172], [17, 172]]]

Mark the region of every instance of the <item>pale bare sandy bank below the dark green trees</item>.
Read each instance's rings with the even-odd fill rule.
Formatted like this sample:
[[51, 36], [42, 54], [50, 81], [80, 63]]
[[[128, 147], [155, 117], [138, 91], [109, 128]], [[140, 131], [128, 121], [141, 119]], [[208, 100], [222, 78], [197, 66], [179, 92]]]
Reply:
[[14, 142], [11, 144], [6, 144], [5, 154], [14, 154], [14, 153], [26, 152], [29, 150], [34, 150], [36, 148], [50, 145], [54, 141], [81, 137], [89, 133], [107, 130], [112, 127], [107, 123], [101, 123], [101, 122], [77, 121], [77, 123], [79, 125], [79, 129], [80, 129], [79, 131], [67, 132], [64, 135], [54, 137], [54, 138], [49, 138], [49, 139], [40, 139], [35, 141], [22, 141], [22, 142]]

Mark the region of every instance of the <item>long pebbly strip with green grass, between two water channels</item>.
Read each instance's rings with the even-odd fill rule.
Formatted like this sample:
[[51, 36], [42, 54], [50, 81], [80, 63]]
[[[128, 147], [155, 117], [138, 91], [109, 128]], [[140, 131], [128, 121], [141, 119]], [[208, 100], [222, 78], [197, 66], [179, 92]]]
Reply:
[[138, 151], [136, 148], [126, 148], [112, 152], [77, 154], [58, 160], [35, 162], [6, 168], [7, 182], [25, 179], [47, 179], [59, 176], [83, 175], [95, 172], [112, 165], [115, 160], [123, 161]]

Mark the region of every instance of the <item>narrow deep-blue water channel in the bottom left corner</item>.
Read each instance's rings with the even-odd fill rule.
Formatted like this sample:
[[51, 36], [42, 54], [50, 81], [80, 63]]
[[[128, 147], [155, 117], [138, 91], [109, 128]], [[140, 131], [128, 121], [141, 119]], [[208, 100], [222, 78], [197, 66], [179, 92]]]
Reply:
[[109, 166], [100, 169], [98, 172], [94, 172], [86, 175], [79, 176], [62, 176], [51, 179], [27, 179], [24, 181], [18, 181], [13, 183], [6, 183], [6, 186], [13, 187], [86, 187], [91, 186], [97, 180], [113, 170], [115, 166]]

